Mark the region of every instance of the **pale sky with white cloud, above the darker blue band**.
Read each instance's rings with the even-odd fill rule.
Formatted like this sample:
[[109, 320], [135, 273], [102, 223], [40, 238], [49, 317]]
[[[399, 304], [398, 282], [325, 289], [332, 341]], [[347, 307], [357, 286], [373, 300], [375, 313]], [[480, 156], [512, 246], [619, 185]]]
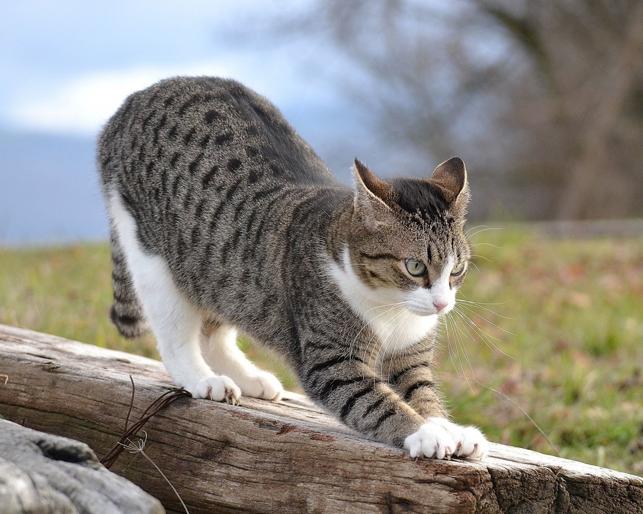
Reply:
[[257, 36], [306, 4], [3, 2], [0, 127], [93, 136], [127, 94], [172, 75], [237, 78], [284, 111], [332, 103], [339, 70], [321, 45]]

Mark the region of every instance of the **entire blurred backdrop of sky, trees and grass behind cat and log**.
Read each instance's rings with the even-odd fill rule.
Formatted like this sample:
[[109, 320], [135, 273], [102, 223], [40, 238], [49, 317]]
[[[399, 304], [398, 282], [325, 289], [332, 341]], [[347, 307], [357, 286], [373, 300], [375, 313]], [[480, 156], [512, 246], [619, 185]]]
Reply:
[[107, 320], [94, 152], [173, 75], [264, 94], [345, 183], [356, 156], [426, 177], [460, 155], [477, 268], [444, 329], [454, 417], [643, 474], [641, 0], [0, 3], [0, 323], [158, 357]]

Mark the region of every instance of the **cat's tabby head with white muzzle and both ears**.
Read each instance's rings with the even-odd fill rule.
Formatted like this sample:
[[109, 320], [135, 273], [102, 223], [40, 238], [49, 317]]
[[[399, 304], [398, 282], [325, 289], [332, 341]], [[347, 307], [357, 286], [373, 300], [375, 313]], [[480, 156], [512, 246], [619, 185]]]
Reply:
[[403, 303], [419, 315], [446, 314], [471, 257], [464, 162], [452, 157], [428, 179], [384, 181], [356, 159], [355, 174], [349, 260], [368, 299]]

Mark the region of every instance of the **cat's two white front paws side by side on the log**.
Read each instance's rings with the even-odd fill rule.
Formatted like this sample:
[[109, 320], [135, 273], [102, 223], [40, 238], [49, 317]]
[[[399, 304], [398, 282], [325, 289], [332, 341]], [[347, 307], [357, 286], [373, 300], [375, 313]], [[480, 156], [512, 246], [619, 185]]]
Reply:
[[489, 443], [475, 427], [460, 427], [444, 418], [429, 418], [417, 432], [404, 439], [411, 457], [482, 459]]

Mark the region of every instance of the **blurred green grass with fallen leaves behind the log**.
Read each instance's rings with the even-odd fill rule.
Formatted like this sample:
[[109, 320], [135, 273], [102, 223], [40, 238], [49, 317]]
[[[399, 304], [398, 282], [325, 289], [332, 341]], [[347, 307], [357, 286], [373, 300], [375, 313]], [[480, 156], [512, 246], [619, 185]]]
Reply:
[[[643, 475], [643, 238], [478, 231], [459, 295], [476, 303], [459, 303], [442, 337], [453, 418]], [[158, 359], [152, 336], [128, 341], [109, 322], [110, 276], [106, 245], [0, 249], [0, 323]], [[242, 346], [296, 389], [278, 360]]]

